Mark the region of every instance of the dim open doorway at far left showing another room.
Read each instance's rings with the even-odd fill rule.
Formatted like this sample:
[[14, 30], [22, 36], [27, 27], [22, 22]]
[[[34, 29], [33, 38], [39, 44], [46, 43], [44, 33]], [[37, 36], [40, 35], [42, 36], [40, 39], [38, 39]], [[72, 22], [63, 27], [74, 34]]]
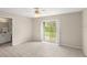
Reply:
[[12, 44], [12, 19], [0, 18], [0, 44]]

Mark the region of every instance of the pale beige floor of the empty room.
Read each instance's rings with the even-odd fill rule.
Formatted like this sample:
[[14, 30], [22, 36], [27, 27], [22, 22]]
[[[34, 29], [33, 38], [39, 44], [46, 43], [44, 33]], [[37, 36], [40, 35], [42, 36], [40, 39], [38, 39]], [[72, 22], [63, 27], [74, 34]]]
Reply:
[[28, 42], [0, 45], [0, 57], [84, 57], [83, 51], [53, 43]]

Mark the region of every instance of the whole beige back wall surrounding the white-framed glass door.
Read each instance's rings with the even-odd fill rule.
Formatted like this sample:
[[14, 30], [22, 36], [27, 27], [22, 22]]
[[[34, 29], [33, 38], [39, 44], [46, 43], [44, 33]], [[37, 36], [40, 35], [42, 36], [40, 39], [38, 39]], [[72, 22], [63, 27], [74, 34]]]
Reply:
[[41, 22], [43, 20], [59, 20], [61, 23], [61, 44], [72, 47], [81, 47], [81, 12], [66, 13], [54, 17], [33, 19], [33, 40], [41, 40]]

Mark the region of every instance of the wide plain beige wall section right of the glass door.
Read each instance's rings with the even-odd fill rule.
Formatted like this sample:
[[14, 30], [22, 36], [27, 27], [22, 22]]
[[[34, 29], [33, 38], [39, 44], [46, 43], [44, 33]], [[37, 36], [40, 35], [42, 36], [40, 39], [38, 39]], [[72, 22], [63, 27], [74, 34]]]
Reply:
[[83, 18], [81, 12], [61, 15], [62, 45], [80, 48], [83, 45]]

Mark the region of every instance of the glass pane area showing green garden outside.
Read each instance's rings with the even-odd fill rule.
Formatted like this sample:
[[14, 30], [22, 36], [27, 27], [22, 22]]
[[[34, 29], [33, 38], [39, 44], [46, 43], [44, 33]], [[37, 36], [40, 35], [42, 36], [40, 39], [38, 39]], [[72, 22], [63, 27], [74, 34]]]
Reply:
[[56, 40], [56, 23], [43, 22], [44, 40], [48, 42], [55, 42]]

